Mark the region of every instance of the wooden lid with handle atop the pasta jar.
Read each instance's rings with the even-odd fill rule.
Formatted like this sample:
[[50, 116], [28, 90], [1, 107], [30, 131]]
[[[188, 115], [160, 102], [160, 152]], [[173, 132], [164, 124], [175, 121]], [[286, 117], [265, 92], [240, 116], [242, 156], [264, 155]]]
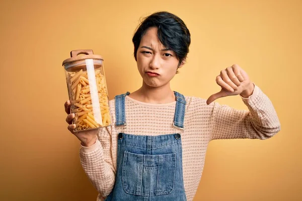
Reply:
[[[85, 55], [78, 56], [79, 54]], [[64, 66], [65, 69], [71, 66], [76, 66], [78, 63], [85, 59], [100, 60], [100, 62], [104, 60], [101, 55], [93, 54], [93, 50], [72, 50], [70, 52], [70, 58], [65, 59], [62, 63], [62, 66]]]

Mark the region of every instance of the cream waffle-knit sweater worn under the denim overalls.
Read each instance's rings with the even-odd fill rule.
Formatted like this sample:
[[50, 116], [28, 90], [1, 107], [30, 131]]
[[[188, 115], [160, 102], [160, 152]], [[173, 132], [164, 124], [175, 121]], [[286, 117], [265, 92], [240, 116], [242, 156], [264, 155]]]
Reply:
[[[90, 147], [81, 147], [84, 171], [98, 190], [97, 200], [104, 200], [115, 182], [117, 138], [123, 132], [133, 135], [180, 133], [183, 148], [184, 186], [187, 200], [196, 193], [208, 143], [214, 139], [268, 139], [280, 131], [280, 123], [269, 98], [255, 85], [253, 94], [241, 97], [249, 111], [236, 110], [215, 102], [210, 105], [199, 97], [185, 96], [185, 130], [172, 127], [176, 102], [147, 104], [125, 97], [127, 126], [102, 128], [98, 140]], [[112, 122], [115, 122], [114, 99], [110, 100]]]

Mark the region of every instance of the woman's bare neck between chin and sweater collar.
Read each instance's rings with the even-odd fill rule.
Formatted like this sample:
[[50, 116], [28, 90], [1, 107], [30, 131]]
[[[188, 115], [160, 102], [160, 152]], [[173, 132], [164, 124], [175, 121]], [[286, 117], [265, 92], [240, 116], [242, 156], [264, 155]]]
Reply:
[[161, 87], [150, 87], [143, 82], [135, 93], [140, 101], [144, 103], [167, 104], [175, 101], [175, 94], [170, 88], [170, 82]]

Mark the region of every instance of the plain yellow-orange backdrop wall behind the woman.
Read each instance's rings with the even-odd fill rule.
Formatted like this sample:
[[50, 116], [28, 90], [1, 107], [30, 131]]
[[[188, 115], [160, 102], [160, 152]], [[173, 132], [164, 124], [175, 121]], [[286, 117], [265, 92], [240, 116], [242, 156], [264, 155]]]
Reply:
[[[104, 57], [110, 99], [141, 77], [139, 19], [169, 11], [191, 32], [172, 89], [207, 98], [221, 69], [239, 64], [271, 99], [281, 132], [209, 144], [194, 200], [302, 200], [302, 1], [1, 1], [1, 200], [95, 200], [70, 134], [61, 63], [75, 49]], [[217, 100], [247, 109], [239, 96]]]

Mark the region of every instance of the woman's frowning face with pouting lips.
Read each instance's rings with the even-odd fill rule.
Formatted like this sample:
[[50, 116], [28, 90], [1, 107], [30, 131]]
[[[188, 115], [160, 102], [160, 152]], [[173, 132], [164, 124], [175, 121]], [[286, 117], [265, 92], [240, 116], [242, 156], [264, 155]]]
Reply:
[[151, 87], [165, 86], [174, 77], [179, 60], [158, 38], [158, 29], [148, 29], [137, 49], [137, 68], [144, 83]]

